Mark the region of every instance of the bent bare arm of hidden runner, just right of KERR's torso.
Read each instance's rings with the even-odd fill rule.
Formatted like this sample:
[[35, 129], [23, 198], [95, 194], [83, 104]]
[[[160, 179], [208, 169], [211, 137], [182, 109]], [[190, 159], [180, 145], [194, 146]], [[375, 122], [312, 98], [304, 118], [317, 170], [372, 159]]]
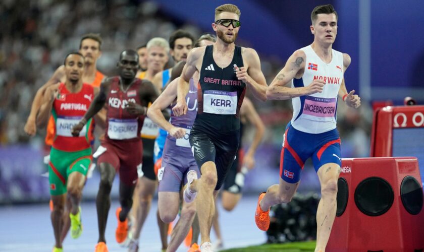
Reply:
[[254, 155], [257, 147], [262, 141], [262, 137], [265, 132], [265, 126], [263, 125], [263, 122], [260, 119], [258, 113], [256, 112], [256, 109], [253, 106], [252, 102], [247, 97], [244, 98], [243, 103], [241, 104], [240, 114], [241, 116], [246, 117], [247, 120], [255, 128], [255, 135], [253, 137], [253, 141], [249, 147], [249, 150], [246, 152], [243, 158], [243, 165], [250, 170], [255, 166]]

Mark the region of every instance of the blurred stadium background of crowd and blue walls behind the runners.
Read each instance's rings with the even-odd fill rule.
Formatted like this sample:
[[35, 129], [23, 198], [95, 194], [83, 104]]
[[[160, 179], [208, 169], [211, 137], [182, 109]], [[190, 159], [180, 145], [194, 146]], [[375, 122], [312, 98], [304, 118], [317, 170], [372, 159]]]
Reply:
[[[196, 37], [213, 32], [214, 10], [224, 1], [53, 1], [4, 0], [0, 3], [0, 204], [46, 202], [47, 179], [42, 163], [44, 130], [28, 138], [23, 132], [36, 90], [78, 50], [88, 32], [103, 38], [97, 68], [116, 74], [119, 52], [150, 38], [166, 39], [178, 28]], [[369, 155], [372, 103], [405, 96], [424, 101], [424, 2], [420, 1], [232, 1], [241, 10], [237, 44], [259, 53], [262, 71], [271, 83], [290, 54], [312, 42], [310, 12], [333, 4], [339, 15], [334, 49], [347, 52], [352, 64], [345, 74], [348, 90], [362, 98], [358, 110], [340, 103], [338, 128], [343, 157]], [[172, 62], [170, 63], [170, 65]], [[278, 182], [283, 130], [291, 118], [290, 101], [255, 101], [267, 131], [256, 153], [256, 167], [246, 177], [245, 193]], [[244, 147], [252, 138], [247, 127]], [[318, 192], [319, 182], [308, 163], [301, 192]], [[98, 172], [88, 180], [85, 199], [94, 199]], [[114, 186], [117, 195], [117, 186]]]

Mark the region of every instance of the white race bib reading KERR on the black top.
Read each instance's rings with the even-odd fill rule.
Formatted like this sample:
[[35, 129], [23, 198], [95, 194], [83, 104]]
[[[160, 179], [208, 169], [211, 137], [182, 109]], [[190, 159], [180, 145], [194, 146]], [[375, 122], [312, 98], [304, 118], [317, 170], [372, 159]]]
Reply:
[[237, 92], [219, 90], [204, 91], [203, 112], [211, 114], [236, 114]]

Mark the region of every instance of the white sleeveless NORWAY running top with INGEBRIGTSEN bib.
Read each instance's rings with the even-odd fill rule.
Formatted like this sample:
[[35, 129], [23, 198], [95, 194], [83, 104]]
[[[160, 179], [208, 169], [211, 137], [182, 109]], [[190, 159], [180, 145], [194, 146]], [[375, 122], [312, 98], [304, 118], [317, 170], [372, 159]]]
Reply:
[[332, 60], [324, 62], [310, 45], [301, 48], [306, 54], [302, 78], [292, 80], [292, 88], [306, 87], [314, 79], [324, 80], [322, 93], [292, 98], [291, 124], [302, 132], [319, 134], [336, 129], [337, 95], [343, 80], [343, 54], [332, 49]]

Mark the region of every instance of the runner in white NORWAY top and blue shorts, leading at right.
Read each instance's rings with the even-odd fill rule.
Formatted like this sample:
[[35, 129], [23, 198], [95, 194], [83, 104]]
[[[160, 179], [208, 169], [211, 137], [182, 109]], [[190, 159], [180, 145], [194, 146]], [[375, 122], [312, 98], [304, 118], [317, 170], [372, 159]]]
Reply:
[[[350, 107], [360, 105], [354, 90], [347, 92], [343, 78], [350, 65], [350, 56], [332, 49], [337, 20], [332, 5], [315, 7], [310, 26], [313, 43], [290, 56], [267, 90], [268, 99], [292, 99], [293, 118], [287, 125], [281, 150], [280, 183], [259, 195], [255, 213], [259, 229], [268, 230], [270, 207], [291, 201], [304, 163], [312, 158], [322, 195], [316, 212], [319, 225], [315, 251], [325, 251], [336, 216], [341, 165], [340, 138], [336, 129], [337, 97]], [[289, 83], [291, 87], [285, 87]]]

